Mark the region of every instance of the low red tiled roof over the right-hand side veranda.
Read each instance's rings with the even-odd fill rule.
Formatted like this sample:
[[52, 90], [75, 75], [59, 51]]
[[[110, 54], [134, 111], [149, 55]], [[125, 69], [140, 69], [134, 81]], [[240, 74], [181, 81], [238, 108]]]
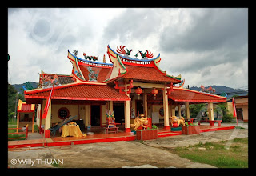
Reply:
[[187, 89], [174, 89], [169, 98], [174, 102], [226, 102], [225, 97]]

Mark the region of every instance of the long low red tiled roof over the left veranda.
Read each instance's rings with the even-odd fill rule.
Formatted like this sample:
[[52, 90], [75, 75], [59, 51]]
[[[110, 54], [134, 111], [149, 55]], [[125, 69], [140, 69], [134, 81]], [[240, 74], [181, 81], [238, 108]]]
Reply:
[[[25, 92], [25, 98], [47, 98], [50, 89], [34, 90]], [[74, 83], [66, 86], [54, 88], [52, 99], [68, 100], [94, 100], [94, 101], [126, 101], [130, 100], [126, 94], [120, 94], [118, 90], [106, 85], [89, 85], [84, 83]]]

